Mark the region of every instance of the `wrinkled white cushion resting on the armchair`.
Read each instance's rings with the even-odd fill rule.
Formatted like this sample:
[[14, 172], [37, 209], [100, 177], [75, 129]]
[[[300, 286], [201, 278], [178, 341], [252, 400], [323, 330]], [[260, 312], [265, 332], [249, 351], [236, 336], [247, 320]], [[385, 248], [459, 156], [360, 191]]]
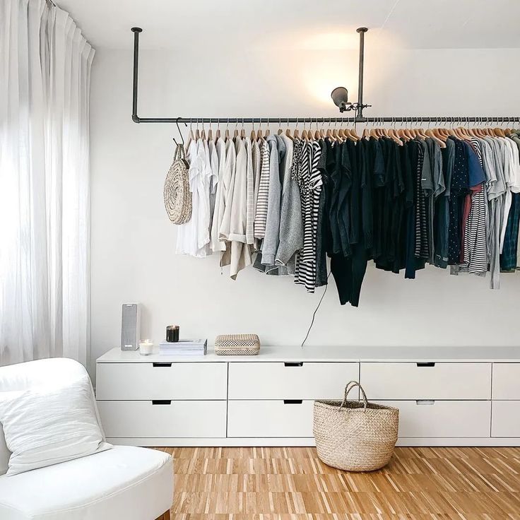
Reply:
[[4, 394], [0, 423], [11, 451], [6, 475], [16, 475], [109, 449], [95, 414], [90, 379], [47, 382]]

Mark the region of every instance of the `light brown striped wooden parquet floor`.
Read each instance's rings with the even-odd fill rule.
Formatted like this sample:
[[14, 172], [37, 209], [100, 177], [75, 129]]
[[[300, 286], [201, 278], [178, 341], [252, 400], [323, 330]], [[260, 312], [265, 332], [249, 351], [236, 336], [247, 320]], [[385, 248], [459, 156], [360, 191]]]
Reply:
[[172, 520], [520, 520], [519, 448], [396, 448], [347, 473], [314, 448], [159, 448], [175, 459]]

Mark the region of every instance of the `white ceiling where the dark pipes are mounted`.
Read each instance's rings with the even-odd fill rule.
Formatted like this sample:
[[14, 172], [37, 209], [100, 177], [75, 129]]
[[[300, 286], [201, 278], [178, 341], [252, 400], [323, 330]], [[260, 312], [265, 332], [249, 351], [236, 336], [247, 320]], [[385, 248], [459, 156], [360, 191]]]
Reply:
[[97, 49], [520, 47], [519, 0], [56, 0]]

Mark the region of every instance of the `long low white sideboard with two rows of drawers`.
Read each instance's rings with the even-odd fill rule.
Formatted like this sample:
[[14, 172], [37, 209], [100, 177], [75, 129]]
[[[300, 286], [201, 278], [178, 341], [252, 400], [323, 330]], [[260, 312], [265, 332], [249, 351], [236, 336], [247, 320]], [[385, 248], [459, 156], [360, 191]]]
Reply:
[[313, 401], [341, 399], [353, 379], [399, 408], [401, 446], [520, 446], [520, 348], [114, 348], [97, 360], [96, 396], [113, 444], [313, 446]]

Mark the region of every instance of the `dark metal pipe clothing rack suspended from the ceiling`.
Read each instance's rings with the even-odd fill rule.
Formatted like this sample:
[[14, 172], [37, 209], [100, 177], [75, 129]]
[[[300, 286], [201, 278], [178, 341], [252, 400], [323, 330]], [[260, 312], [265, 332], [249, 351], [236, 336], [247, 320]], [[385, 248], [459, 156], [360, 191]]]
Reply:
[[364, 117], [363, 109], [371, 105], [363, 105], [363, 61], [365, 58], [365, 32], [367, 28], [359, 28], [360, 34], [360, 60], [359, 60], [359, 81], [358, 81], [358, 102], [350, 105], [348, 110], [355, 110], [355, 117], [140, 117], [137, 114], [137, 86], [138, 86], [138, 64], [139, 64], [139, 33], [143, 29], [139, 27], [131, 28], [134, 32], [134, 81], [132, 89], [132, 121], [134, 123], [208, 123], [208, 124], [336, 124], [336, 123], [477, 123], [477, 124], [509, 124], [520, 123], [520, 116], [398, 116], [398, 117]]

